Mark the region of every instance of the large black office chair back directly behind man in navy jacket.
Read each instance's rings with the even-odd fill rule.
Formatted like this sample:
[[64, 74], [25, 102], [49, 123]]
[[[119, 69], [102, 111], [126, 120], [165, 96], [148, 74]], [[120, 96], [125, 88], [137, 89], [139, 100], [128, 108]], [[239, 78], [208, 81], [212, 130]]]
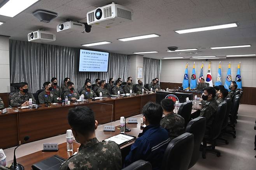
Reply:
[[161, 170], [188, 170], [194, 147], [194, 135], [184, 133], [168, 144]]

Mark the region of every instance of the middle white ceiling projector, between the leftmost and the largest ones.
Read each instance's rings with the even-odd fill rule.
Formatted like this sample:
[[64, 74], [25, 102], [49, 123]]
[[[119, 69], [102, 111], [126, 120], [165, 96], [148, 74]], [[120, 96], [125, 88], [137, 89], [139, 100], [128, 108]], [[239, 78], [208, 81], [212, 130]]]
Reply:
[[67, 21], [57, 25], [57, 32], [63, 31], [65, 33], [82, 32], [84, 31], [84, 24]]

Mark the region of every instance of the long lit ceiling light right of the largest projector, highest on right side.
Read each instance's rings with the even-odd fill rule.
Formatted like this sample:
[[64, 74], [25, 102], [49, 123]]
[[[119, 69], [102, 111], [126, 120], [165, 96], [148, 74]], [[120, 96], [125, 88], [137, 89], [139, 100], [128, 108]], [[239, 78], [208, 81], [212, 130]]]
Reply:
[[199, 28], [189, 28], [189, 29], [181, 29], [176, 30], [175, 32], [178, 34], [184, 34], [184, 33], [193, 33], [198, 31], [208, 31], [208, 30], [214, 30], [214, 29], [223, 29], [223, 28], [232, 28], [237, 27], [237, 23], [230, 23], [230, 24], [221, 24], [221, 25], [215, 25], [215, 26], [205, 26], [205, 27], [199, 27]]

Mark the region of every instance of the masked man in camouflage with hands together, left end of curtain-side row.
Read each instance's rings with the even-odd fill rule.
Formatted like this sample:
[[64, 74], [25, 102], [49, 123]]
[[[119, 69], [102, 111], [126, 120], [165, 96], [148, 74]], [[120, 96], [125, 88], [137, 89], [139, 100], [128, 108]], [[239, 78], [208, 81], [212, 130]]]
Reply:
[[32, 93], [28, 92], [28, 83], [26, 82], [19, 83], [19, 92], [9, 96], [10, 105], [12, 107], [28, 106], [29, 99], [32, 99], [33, 104], [37, 104], [35, 97], [32, 95]]

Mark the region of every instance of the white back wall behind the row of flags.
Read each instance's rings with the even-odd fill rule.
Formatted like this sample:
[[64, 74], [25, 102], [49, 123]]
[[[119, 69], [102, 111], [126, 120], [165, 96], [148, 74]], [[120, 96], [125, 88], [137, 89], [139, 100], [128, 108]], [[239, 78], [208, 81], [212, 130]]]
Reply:
[[[203, 78], [206, 78], [209, 61], [195, 60], [196, 78], [200, 73], [202, 61], [204, 63]], [[213, 84], [216, 82], [216, 75], [219, 68], [218, 59], [211, 60], [211, 73]], [[186, 63], [188, 62], [188, 75], [189, 82], [193, 69], [193, 60], [190, 59], [171, 59], [161, 60], [161, 74], [160, 82], [182, 83], [185, 72]], [[221, 59], [221, 75], [222, 83], [224, 85], [225, 78], [228, 71], [228, 63], [231, 62], [231, 76], [232, 81], [235, 81], [237, 74], [237, 64], [241, 62], [240, 71], [243, 87], [256, 87], [256, 57], [240, 57], [240, 58], [227, 58]]]

